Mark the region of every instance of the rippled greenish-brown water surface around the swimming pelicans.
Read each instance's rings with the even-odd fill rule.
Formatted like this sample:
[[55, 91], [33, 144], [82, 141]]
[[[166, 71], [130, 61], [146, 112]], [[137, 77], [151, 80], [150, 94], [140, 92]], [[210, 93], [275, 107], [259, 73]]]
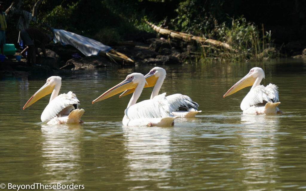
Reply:
[[[250, 68], [279, 87], [283, 115], [242, 115], [250, 88], [223, 94]], [[63, 72], [60, 93], [73, 91], [81, 125], [50, 126], [40, 115], [50, 96], [22, 110], [49, 76], [0, 81], [0, 183], [77, 184], [85, 190], [306, 190], [306, 61], [164, 66], [161, 93], [200, 105], [174, 127], [125, 127], [130, 95], [91, 101], [132, 72], [153, 66]], [[146, 88], [140, 101], [150, 97]], [[6, 187], [7, 189], [7, 187]], [[66, 189], [67, 190], [67, 189]]]

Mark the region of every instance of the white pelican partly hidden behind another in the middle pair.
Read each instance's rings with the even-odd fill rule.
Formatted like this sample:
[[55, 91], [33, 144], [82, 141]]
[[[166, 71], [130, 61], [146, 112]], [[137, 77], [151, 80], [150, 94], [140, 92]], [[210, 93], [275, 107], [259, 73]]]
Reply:
[[[150, 98], [153, 99], [155, 96], [159, 94], [159, 90], [162, 87], [162, 83], [166, 78], [166, 70], [164, 68], [154, 67], [144, 77], [146, 78], [148, 84], [144, 87], [154, 86]], [[126, 90], [119, 97], [125, 96], [132, 92], [133, 89]], [[198, 111], [199, 105], [196, 102], [192, 101], [192, 99], [189, 96], [182, 94], [172, 94], [167, 96], [166, 99], [169, 101], [171, 114], [173, 116], [178, 116], [181, 118], [192, 118], [197, 113], [202, 112]]]

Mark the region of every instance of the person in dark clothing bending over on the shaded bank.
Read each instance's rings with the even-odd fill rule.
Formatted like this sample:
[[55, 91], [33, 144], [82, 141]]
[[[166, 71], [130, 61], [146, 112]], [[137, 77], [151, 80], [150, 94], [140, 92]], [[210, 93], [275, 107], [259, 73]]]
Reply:
[[36, 54], [40, 57], [38, 47], [43, 51], [44, 57], [47, 57], [45, 45], [52, 40], [50, 35], [35, 28], [27, 28], [20, 32], [20, 36], [24, 44], [28, 46], [28, 65], [36, 64]]

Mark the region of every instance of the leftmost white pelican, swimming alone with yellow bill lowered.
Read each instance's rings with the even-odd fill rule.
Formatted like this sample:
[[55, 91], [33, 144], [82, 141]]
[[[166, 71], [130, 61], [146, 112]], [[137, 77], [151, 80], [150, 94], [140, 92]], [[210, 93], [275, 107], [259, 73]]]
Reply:
[[50, 125], [68, 124], [68, 123], [83, 123], [80, 120], [85, 112], [84, 109], [78, 109], [80, 101], [76, 95], [69, 91], [68, 94], [60, 94], [59, 90], [62, 85], [62, 78], [59, 76], [51, 76], [28, 102], [23, 106], [23, 109], [29, 107], [40, 98], [51, 94], [49, 104], [41, 114], [41, 121]]

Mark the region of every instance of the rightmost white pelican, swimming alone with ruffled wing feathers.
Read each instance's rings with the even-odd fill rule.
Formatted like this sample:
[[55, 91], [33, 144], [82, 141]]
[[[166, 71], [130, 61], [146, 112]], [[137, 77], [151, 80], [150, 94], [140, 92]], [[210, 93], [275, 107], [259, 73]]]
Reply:
[[249, 93], [243, 98], [240, 108], [244, 114], [281, 114], [278, 109], [278, 87], [274, 84], [259, 85], [265, 78], [262, 68], [252, 68], [250, 72], [231, 87], [223, 97], [229, 96], [245, 87], [252, 86]]

